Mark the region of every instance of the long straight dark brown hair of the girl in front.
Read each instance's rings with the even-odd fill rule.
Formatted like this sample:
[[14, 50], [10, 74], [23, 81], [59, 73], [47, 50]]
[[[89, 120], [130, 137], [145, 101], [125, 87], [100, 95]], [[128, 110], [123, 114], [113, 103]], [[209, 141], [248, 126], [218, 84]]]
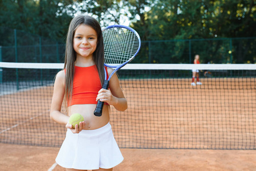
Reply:
[[66, 101], [66, 107], [68, 106], [67, 101], [71, 101], [73, 80], [74, 80], [74, 68], [76, 61], [76, 52], [73, 48], [74, 34], [76, 28], [80, 25], [87, 25], [92, 27], [97, 33], [97, 47], [93, 54], [93, 60], [96, 64], [97, 71], [99, 72], [100, 83], [103, 85], [104, 82], [104, 47], [103, 47], [103, 36], [99, 22], [93, 17], [88, 15], [78, 15], [70, 22], [70, 27], [67, 33], [66, 42], [66, 54], [64, 68], [66, 68], [65, 78], [65, 94], [64, 101]]

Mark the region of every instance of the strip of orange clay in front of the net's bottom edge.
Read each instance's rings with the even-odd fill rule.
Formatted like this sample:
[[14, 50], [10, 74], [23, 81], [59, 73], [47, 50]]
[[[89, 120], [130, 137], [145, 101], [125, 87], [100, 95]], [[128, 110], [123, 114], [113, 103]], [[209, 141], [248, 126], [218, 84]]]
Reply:
[[[48, 170], [59, 148], [0, 144], [1, 171]], [[121, 149], [113, 170], [256, 170], [255, 150]], [[56, 166], [54, 171], [66, 169]]]

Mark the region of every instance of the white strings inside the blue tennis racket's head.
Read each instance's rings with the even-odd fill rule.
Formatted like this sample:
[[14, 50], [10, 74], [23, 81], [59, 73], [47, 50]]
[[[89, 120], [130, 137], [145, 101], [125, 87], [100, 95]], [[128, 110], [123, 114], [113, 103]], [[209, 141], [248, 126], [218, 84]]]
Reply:
[[139, 38], [127, 28], [114, 27], [103, 31], [105, 63], [121, 64], [131, 59], [139, 47]]

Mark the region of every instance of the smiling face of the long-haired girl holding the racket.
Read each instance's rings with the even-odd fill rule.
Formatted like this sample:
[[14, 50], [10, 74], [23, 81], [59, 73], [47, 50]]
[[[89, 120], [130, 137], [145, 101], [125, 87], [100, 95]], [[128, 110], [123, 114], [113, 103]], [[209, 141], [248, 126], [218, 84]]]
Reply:
[[97, 47], [97, 33], [87, 25], [80, 25], [76, 28], [73, 48], [76, 58], [92, 58]]

